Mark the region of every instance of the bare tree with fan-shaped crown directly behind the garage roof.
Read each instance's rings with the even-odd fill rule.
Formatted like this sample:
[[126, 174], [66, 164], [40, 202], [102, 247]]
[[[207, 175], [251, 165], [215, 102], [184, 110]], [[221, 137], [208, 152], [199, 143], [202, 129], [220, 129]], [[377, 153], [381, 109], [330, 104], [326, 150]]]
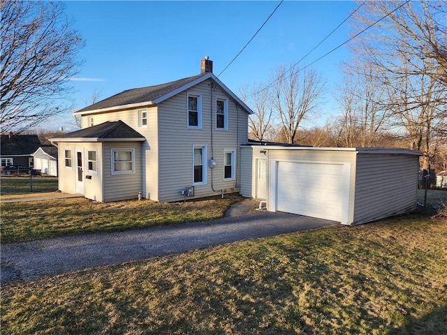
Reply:
[[273, 86], [274, 107], [281, 119], [281, 128], [286, 142], [295, 143], [301, 121], [316, 112], [320, 103], [324, 82], [312, 68], [280, 66], [276, 84]]

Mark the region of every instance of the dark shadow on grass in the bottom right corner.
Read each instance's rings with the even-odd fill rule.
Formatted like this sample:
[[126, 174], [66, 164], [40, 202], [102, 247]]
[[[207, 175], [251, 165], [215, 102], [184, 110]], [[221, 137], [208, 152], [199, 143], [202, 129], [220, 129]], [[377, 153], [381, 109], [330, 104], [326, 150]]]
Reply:
[[411, 313], [406, 315], [406, 325], [397, 329], [390, 329], [390, 335], [445, 335], [447, 334], [447, 305], [434, 308], [422, 318], [413, 318]]

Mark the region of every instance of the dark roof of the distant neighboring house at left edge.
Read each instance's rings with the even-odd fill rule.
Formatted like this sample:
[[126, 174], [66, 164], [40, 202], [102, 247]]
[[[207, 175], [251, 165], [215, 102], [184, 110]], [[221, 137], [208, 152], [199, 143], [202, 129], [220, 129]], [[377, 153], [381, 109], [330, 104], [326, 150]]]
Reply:
[[1, 156], [31, 156], [38, 147], [38, 135], [1, 135]]

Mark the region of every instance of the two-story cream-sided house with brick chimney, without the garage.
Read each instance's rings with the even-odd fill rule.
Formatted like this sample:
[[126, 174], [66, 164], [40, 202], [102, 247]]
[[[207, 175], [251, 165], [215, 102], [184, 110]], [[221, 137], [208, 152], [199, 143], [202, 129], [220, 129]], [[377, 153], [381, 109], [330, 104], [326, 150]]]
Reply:
[[82, 129], [50, 139], [59, 149], [59, 190], [100, 202], [239, 191], [240, 145], [252, 113], [203, 59], [199, 75], [75, 112]]

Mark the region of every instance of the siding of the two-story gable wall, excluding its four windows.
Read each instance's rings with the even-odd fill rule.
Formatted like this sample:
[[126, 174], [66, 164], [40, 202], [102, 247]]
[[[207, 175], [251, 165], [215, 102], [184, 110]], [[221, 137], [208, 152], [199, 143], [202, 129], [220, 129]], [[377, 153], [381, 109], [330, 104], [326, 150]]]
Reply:
[[[215, 109], [210, 96], [210, 81], [202, 82], [189, 89], [188, 92], [173, 96], [161, 103], [159, 112], [159, 201], [183, 200], [182, 190], [193, 186], [193, 144], [207, 146], [207, 160], [214, 158], [216, 166], [211, 168], [206, 164], [207, 181], [204, 185], [194, 188], [194, 198], [207, 197], [227, 192], [237, 192], [240, 184], [240, 167], [236, 164], [235, 179], [223, 180], [223, 150], [235, 148], [235, 161], [239, 161], [241, 144], [247, 144], [248, 114], [233, 100], [228, 100], [228, 131], [216, 131]], [[224, 97], [223, 91], [214, 86], [214, 94]], [[202, 97], [202, 128], [186, 128], [186, 101], [188, 94]], [[211, 131], [213, 143], [211, 143]], [[236, 149], [237, 148], [237, 149]], [[214, 154], [214, 157], [212, 157]], [[214, 192], [212, 190], [216, 190]]]

